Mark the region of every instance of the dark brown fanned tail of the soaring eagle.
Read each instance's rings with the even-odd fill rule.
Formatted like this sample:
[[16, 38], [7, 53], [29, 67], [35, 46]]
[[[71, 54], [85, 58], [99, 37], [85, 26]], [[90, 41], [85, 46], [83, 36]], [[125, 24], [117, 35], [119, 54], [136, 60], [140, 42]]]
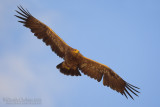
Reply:
[[61, 62], [56, 67], [57, 67], [57, 69], [60, 70], [61, 73], [65, 74], [65, 75], [81, 76], [78, 68], [74, 70], [74, 69], [68, 67], [64, 62]]

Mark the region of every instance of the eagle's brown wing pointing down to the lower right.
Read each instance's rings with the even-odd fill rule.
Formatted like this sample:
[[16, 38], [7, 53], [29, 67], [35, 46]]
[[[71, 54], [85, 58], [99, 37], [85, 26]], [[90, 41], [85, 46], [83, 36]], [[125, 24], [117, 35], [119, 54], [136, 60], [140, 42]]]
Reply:
[[79, 69], [84, 74], [96, 79], [98, 82], [100, 82], [103, 78], [104, 86], [108, 86], [113, 90], [120, 92], [122, 95], [125, 95], [126, 98], [128, 98], [128, 94], [133, 99], [129, 91], [138, 96], [137, 93], [139, 93], [139, 91], [136, 90], [139, 89], [138, 87], [135, 87], [124, 81], [120, 76], [118, 76], [112, 69], [110, 69], [106, 65], [81, 56], [79, 58]]

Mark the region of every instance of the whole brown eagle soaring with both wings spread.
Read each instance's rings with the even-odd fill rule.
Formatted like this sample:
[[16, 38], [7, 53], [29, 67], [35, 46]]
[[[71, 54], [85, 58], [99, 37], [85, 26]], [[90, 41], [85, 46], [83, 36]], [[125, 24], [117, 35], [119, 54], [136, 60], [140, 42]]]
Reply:
[[104, 86], [121, 93], [127, 99], [129, 96], [134, 100], [130, 93], [138, 96], [138, 93], [140, 93], [138, 87], [123, 80], [108, 66], [83, 56], [79, 50], [66, 44], [50, 27], [33, 17], [27, 9], [22, 6], [17, 7], [19, 11], [16, 10], [18, 15], [15, 16], [21, 19], [18, 22], [23, 23], [38, 39], [42, 39], [57, 56], [64, 60], [56, 66], [61, 73], [70, 76], [81, 76], [81, 71], [98, 82], [103, 78]]

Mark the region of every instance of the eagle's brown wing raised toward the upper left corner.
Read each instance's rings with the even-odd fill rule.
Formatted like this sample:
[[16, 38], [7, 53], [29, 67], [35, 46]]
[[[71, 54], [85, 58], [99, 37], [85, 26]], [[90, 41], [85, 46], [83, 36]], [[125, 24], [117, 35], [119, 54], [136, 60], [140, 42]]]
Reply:
[[22, 19], [19, 21], [23, 23], [25, 27], [30, 28], [31, 32], [38, 39], [42, 39], [46, 45], [50, 45], [52, 51], [54, 51], [59, 57], [64, 58], [65, 51], [70, 48], [51, 28], [34, 18], [28, 10], [24, 10], [22, 6], [18, 7], [20, 12], [16, 12], [21, 15], [16, 17]]

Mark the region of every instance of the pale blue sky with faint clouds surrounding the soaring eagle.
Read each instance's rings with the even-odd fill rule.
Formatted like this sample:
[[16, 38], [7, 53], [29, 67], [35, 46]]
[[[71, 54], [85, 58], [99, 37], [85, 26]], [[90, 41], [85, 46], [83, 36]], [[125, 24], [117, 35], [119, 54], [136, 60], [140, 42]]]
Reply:
[[[61, 74], [62, 59], [17, 22], [27, 8], [66, 43], [140, 87], [126, 99], [86, 75]], [[159, 0], [0, 0], [1, 107], [159, 107]], [[40, 98], [39, 105], [9, 105], [3, 98]]]

